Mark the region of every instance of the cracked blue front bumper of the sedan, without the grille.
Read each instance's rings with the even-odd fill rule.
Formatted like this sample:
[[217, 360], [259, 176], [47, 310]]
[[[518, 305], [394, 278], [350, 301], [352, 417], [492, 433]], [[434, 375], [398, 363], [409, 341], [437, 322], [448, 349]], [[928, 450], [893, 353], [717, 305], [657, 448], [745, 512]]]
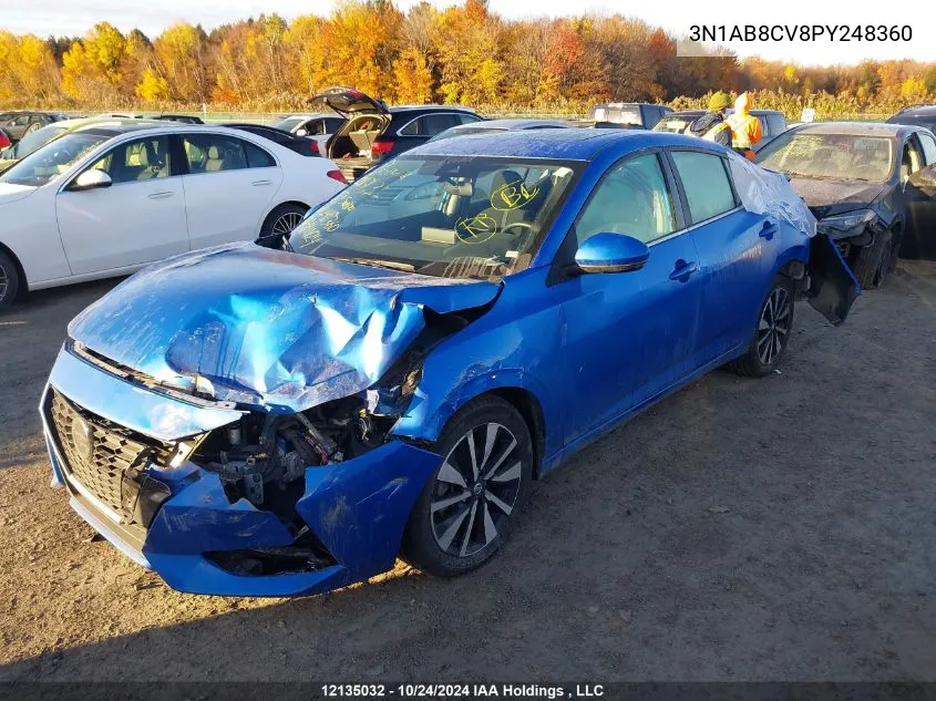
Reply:
[[162, 442], [226, 425], [239, 412], [148, 391], [65, 349], [59, 353], [40, 404], [54, 481], [68, 488], [72, 508], [135, 563], [155, 570], [174, 589], [193, 594], [311, 595], [390, 569], [410, 511], [442, 461], [434, 453], [394, 441], [342, 463], [307, 468], [296, 512], [330, 554], [329, 563], [308, 571], [245, 575], [222, 567], [210, 555], [289, 547], [295, 534], [274, 513], [243, 498], [232, 504], [218, 476], [192, 462], [174, 467], [151, 463], [143, 472], [171, 494], [147, 526], [127, 523], [126, 514], [113, 507], [114, 499], [109, 505], [99, 498], [71, 470], [66, 455], [75, 449], [73, 441], [69, 450], [62, 443], [50, 411], [53, 393], [90, 416]]

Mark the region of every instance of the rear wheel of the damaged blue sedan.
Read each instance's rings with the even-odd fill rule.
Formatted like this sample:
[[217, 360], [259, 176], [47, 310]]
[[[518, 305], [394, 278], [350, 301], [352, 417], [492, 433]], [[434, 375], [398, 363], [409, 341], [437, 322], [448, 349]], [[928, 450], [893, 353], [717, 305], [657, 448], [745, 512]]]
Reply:
[[[795, 291], [795, 284], [790, 278], [782, 275], [773, 278], [758, 311], [751, 344], [743, 355], [729, 364], [731, 370], [749, 378], [763, 378], [774, 371], [793, 329]], [[772, 352], [765, 353], [768, 348]]]

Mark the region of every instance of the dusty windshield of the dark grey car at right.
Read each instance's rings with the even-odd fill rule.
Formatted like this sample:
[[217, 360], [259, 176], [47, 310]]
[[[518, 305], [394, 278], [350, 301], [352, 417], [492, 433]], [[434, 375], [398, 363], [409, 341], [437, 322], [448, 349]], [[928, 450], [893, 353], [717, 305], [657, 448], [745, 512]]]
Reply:
[[886, 136], [788, 132], [755, 159], [792, 177], [883, 183], [894, 167], [894, 144]]

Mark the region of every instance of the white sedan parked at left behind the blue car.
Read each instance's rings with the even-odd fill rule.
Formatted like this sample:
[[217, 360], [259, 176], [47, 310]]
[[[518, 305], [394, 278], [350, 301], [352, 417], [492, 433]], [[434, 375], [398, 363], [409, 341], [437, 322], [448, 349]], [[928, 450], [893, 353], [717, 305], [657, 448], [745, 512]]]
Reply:
[[0, 308], [206, 246], [275, 243], [343, 187], [331, 161], [237, 130], [66, 134], [0, 176]]

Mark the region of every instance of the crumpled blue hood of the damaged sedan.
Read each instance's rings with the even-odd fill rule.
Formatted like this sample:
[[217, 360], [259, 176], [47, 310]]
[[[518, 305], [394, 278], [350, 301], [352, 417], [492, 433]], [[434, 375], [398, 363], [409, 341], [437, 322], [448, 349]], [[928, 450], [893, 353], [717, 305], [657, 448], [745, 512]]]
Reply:
[[294, 412], [379, 380], [424, 328], [423, 307], [481, 307], [500, 289], [241, 244], [146, 268], [69, 336], [157, 381], [200, 377], [217, 400]]

